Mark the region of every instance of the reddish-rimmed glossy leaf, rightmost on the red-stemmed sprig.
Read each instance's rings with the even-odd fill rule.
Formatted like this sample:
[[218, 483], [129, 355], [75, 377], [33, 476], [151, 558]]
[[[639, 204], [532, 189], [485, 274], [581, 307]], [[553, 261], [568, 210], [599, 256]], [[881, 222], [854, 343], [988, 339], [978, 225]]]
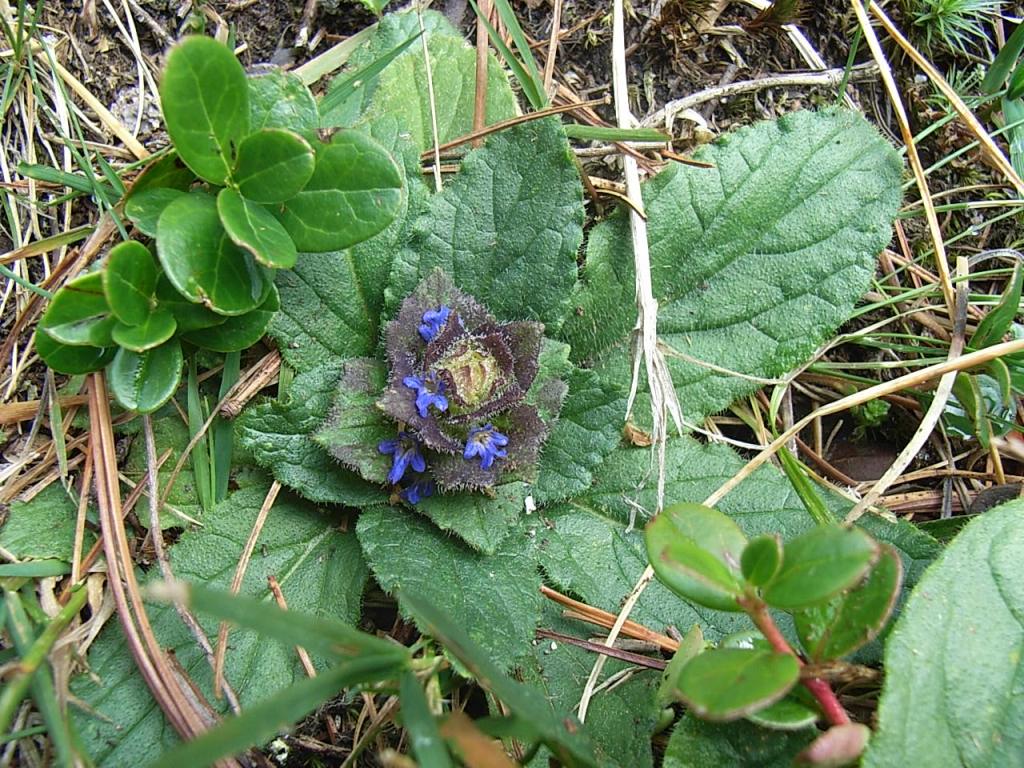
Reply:
[[807, 655], [814, 662], [840, 658], [878, 637], [896, 607], [902, 584], [903, 561], [892, 547], [883, 546], [862, 584], [793, 614]]

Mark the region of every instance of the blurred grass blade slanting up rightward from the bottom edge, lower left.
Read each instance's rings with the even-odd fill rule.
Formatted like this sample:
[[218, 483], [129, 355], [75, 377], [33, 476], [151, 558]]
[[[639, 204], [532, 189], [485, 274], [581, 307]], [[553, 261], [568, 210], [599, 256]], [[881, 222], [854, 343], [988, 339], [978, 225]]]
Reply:
[[152, 768], [212, 765], [220, 758], [269, 741], [344, 688], [387, 680], [400, 670], [401, 664], [393, 656], [343, 662], [314, 678], [285, 688], [238, 717], [225, 719], [198, 738], [165, 753]]

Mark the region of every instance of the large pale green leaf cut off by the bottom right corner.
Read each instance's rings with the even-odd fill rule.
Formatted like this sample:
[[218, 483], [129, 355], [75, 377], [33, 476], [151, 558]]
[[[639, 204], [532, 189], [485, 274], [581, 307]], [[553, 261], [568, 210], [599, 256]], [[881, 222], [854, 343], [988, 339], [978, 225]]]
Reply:
[[980, 515], [925, 573], [886, 645], [866, 768], [1002, 768], [1024, 756], [1024, 503]]

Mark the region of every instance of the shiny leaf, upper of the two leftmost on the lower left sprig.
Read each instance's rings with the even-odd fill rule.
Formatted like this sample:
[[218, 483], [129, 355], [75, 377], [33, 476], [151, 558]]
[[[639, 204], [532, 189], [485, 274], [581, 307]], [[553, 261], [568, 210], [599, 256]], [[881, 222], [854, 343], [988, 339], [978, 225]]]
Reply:
[[90, 272], [56, 292], [39, 329], [60, 344], [108, 347], [113, 344], [111, 330], [116, 322], [103, 294], [102, 275]]

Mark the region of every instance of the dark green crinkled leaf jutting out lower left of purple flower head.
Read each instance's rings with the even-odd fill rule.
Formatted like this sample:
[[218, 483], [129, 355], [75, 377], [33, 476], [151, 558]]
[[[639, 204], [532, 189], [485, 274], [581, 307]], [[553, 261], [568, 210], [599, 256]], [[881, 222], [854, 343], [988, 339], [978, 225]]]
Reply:
[[340, 378], [338, 367], [300, 373], [281, 397], [247, 409], [237, 421], [237, 436], [260, 466], [311, 501], [378, 504], [379, 485], [342, 467], [312, 439], [327, 419]]

